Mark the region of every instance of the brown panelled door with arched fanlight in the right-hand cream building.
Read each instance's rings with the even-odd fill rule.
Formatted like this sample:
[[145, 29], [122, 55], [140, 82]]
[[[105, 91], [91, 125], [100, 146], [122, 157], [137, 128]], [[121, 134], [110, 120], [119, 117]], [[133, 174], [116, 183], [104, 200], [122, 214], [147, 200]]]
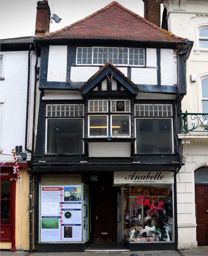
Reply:
[[195, 171], [196, 239], [198, 246], [208, 245], [208, 167]]

